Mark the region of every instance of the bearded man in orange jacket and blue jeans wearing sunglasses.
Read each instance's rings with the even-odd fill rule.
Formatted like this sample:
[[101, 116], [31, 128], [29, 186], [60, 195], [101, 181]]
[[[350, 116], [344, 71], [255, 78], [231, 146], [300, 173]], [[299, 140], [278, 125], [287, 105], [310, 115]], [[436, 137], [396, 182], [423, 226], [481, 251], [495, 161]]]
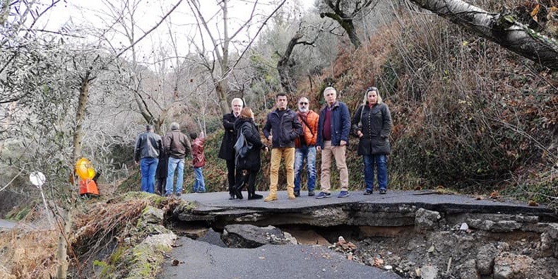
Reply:
[[306, 160], [308, 172], [308, 196], [314, 196], [316, 188], [316, 138], [319, 114], [310, 109], [307, 97], [298, 100], [298, 120], [302, 124], [302, 135], [295, 139], [295, 196], [300, 196], [302, 167]]

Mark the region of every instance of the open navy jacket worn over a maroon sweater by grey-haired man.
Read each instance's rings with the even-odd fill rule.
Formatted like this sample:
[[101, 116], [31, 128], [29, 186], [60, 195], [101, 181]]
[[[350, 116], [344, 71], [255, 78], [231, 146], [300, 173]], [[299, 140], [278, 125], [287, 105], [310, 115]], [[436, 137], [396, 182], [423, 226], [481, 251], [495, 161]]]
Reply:
[[[328, 106], [323, 107], [320, 111], [318, 121], [318, 138], [316, 146], [323, 148], [323, 121], [326, 120], [326, 111]], [[349, 146], [350, 133], [350, 114], [349, 108], [344, 102], [335, 102], [331, 107], [331, 146], [340, 146], [341, 141], [345, 141]]]

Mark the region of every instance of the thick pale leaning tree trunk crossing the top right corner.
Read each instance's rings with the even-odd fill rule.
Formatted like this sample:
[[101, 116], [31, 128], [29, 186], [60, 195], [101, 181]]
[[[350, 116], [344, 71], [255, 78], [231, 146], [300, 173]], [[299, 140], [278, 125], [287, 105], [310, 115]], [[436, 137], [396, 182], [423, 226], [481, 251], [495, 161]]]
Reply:
[[411, 0], [471, 32], [550, 69], [558, 69], [558, 44], [516, 21], [461, 0]]

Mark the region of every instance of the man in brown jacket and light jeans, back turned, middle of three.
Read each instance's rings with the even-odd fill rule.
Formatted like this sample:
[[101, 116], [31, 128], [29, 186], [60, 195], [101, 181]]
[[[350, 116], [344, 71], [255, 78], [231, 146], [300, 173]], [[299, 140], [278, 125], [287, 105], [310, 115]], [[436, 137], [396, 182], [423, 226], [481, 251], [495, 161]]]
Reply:
[[169, 155], [169, 167], [167, 170], [167, 185], [165, 186], [165, 196], [171, 196], [174, 192], [174, 170], [177, 171], [177, 196], [182, 195], [182, 180], [184, 180], [184, 158], [190, 155], [190, 140], [188, 136], [180, 132], [180, 125], [177, 122], [170, 124], [170, 133], [165, 135], [163, 145], [165, 153]]

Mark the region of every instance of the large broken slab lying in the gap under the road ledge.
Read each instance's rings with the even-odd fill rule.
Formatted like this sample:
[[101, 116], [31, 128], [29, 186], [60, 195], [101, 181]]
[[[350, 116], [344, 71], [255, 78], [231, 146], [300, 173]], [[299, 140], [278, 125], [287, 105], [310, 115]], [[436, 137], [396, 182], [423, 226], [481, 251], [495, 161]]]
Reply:
[[276, 227], [254, 225], [226, 225], [221, 239], [227, 247], [256, 248], [265, 244], [287, 244], [283, 232]]

